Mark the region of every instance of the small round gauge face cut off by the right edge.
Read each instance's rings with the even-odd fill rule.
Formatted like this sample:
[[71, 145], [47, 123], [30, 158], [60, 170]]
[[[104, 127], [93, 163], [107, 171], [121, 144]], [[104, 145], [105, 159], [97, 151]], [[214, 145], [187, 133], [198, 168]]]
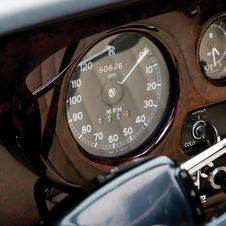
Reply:
[[205, 32], [199, 50], [202, 71], [211, 79], [226, 77], [226, 22], [214, 22]]

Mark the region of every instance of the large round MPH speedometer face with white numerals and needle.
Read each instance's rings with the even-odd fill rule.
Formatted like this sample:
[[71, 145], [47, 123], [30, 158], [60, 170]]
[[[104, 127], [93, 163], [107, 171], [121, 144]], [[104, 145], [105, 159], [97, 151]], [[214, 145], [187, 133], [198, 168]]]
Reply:
[[71, 75], [66, 99], [69, 128], [88, 153], [131, 154], [164, 123], [170, 78], [159, 47], [135, 32], [105, 38]]

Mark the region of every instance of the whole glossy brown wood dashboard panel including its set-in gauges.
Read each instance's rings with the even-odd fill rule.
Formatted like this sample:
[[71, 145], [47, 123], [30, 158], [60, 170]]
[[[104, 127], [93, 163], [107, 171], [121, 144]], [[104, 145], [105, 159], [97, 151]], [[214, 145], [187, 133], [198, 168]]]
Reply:
[[[161, 7], [150, 1], [124, 7], [2, 38], [4, 66], [0, 71], [8, 87], [0, 91], [2, 141], [20, 163], [63, 191], [72, 192], [112, 166], [138, 157], [167, 155], [184, 162], [209, 145], [192, 134], [195, 123], [205, 122], [206, 117], [220, 131], [221, 139], [225, 138], [226, 126], [217, 123], [217, 117], [224, 116], [216, 113], [224, 108], [214, 106], [226, 100], [225, 30], [221, 24], [225, 23], [226, 4], [184, 1]], [[126, 34], [129, 37], [120, 42]], [[212, 41], [215, 36], [217, 41]], [[105, 46], [107, 51], [102, 51]], [[100, 57], [98, 52], [105, 55]], [[111, 65], [116, 67], [114, 73]], [[103, 78], [104, 74], [108, 77]], [[142, 80], [149, 74], [154, 78]], [[87, 85], [80, 91], [81, 84]], [[158, 93], [149, 94], [160, 86]], [[163, 96], [161, 104], [158, 94]], [[146, 114], [146, 108], [152, 110]], [[106, 111], [110, 113], [105, 115]], [[214, 119], [209, 116], [212, 111]], [[125, 122], [130, 114], [132, 120]], [[156, 115], [153, 121], [152, 114]], [[103, 122], [105, 127], [98, 129]], [[149, 130], [137, 126], [141, 122], [150, 123], [144, 127]], [[183, 137], [185, 129], [188, 135]], [[104, 145], [110, 149], [108, 154], [100, 148]], [[126, 149], [129, 151], [123, 152]], [[120, 151], [123, 153], [117, 154]], [[224, 162], [222, 157], [214, 165]], [[208, 210], [225, 195], [200, 175], [197, 172], [193, 179]]]

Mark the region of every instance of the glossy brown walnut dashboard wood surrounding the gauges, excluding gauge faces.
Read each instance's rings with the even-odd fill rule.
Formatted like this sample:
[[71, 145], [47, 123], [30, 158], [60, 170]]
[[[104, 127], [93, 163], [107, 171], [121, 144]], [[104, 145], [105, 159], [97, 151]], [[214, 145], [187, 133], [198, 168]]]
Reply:
[[[205, 31], [224, 17], [223, 1], [165, 5], [150, 1], [2, 37], [0, 113], [4, 145], [26, 168], [62, 190], [79, 188], [112, 166], [138, 157], [167, 155], [179, 163], [187, 160], [207, 147], [203, 144], [187, 150], [181, 143], [189, 114], [226, 100], [226, 79], [210, 79], [199, 59]], [[90, 51], [90, 43], [128, 30], [161, 46], [170, 68], [169, 110], [155, 136], [135, 151], [116, 158], [101, 157], [86, 151], [70, 130], [67, 87], [73, 70]], [[217, 50], [211, 56], [214, 54], [220, 55]], [[54, 81], [48, 83], [52, 78]], [[200, 117], [204, 116], [197, 113], [194, 120]], [[192, 146], [193, 140], [187, 140], [186, 145]], [[224, 164], [223, 160], [216, 164]], [[210, 197], [206, 208], [225, 199], [221, 190], [202, 183], [203, 194]]]

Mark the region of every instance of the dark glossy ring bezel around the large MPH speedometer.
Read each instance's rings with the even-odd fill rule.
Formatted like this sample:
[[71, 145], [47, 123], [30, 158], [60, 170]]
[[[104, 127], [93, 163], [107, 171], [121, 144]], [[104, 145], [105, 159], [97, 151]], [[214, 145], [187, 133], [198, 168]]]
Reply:
[[[73, 139], [69, 139], [69, 140], [74, 140], [74, 141], [70, 141], [70, 143], [76, 143], [76, 146], [79, 148], [80, 152], [88, 157], [89, 159], [95, 161], [95, 162], [114, 162], [114, 161], [118, 161], [117, 159], [125, 159], [125, 158], [133, 158], [133, 156], [137, 156], [140, 155], [141, 153], [147, 153], [150, 152], [151, 147], [156, 146], [159, 144], [159, 142], [161, 141], [161, 139], [164, 137], [164, 135], [168, 132], [168, 130], [164, 127], [164, 125], [167, 124], [167, 122], [169, 121], [169, 117], [172, 117], [172, 102], [175, 102], [175, 99], [173, 97], [175, 97], [174, 95], [174, 91], [175, 89], [173, 89], [173, 86], [177, 87], [177, 91], [179, 91], [178, 86], [177, 86], [177, 81], [175, 81], [175, 68], [172, 66], [174, 65], [175, 62], [173, 62], [172, 60], [172, 54], [169, 54], [169, 49], [167, 49], [165, 47], [165, 45], [162, 44], [162, 42], [159, 40], [160, 38], [156, 35], [153, 35], [153, 30], [147, 29], [147, 27], [143, 27], [143, 26], [133, 26], [133, 27], [126, 27], [126, 28], [122, 28], [122, 29], [117, 29], [114, 30], [112, 32], [109, 32], [107, 34], [102, 35], [101, 37], [97, 38], [94, 42], [92, 42], [91, 44], [89, 44], [83, 51], [82, 53], [79, 55], [79, 57], [76, 59], [76, 62], [74, 63], [74, 65], [72, 66], [72, 68], [70, 69], [70, 71], [73, 71], [77, 65], [79, 64], [80, 60], [85, 56], [85, 54], [93, 47], [95, 46], [98, 42], [100, 42], [101, 40], [112, 36], [114, 34], [119, 34], [122, 32], [135, 32], [135, 33], [139, 33], [142, 34], [143, 36], [147, 37], [148, 39], [151, 39], [156, 45], [158, 45], [158, 48], [161, 49], [162, 54], [164, 55], [165, 61], [167, 62], [168, 65], [168, 70], [169, 73], [171, 74], [171, 78], [170, 78], [170, 92], [169, 92], [169, 99], [170, 101], [167, 102], [167, 110], [164, 113], [163, 116], [163, 120], [161, 125], [158, 126], [157, 132], [155, 133], [155, 136], [152, 136], [151, 138], [147, 138], [139, 147], [137, 147], [135, 150], [131, 151], [129, 154], [125, 154], [125, 155], [120, 155], [116, 158], [110, 158], [110, 157], [103, 157], [103, 156], [95, 156], [93, 154], [90, 154], [89, 152], [87, 152], [84, 148], [82, 148], [77, 141], [73, 138]], [[156, 31], [154, 33], [157, 33]], [[172, 82], [173, 81], [173, 82]], [[70, 82], [70, 78], [67, 78], [66, 81], [66, 87], [68, 87], [68, 84]], [[66, 88], [67, 89], [67, 88]], [[66, 95], [65, 95], [66, 96]], [[174, 99], [174, 100], [172, 100]], [[66, 106], [65, 106], [66, 109]], [[170, 116], [169, 116], [170, 115]], [[65, 113], [66, 116], [66, 113]], [[172, 118], [170, 119], [172, 123]], [[66, 120], [67, 121], [67, 120]], [[167, 124], [167, 127], [170, 127]], [[69, 128], [68, 128], [69, 129]], [[70, 129], [69, 129], [70, 130]], [[69, 131], [71, 134], [71, 137], [73, 137], [73, 134], [71, 131]], [[104, 159], [103, 159], [104, 158]], [[99, 160], [98, 160], [99, 159]], [[103, 160], [101, 160], [103, 159]], [[112, 163], [112, 165], [114, 165]]]

